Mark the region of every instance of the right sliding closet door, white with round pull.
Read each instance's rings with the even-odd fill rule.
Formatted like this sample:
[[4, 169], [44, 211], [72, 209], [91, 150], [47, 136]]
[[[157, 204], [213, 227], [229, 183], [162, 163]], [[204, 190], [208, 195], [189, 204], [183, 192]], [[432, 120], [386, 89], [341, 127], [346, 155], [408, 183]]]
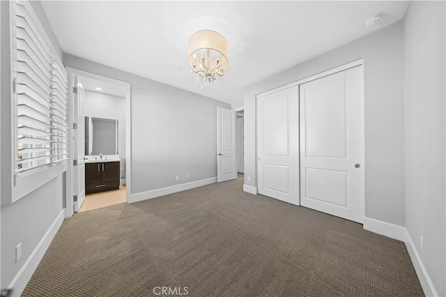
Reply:
[[300, 85], [302, 206], [364, 218], [362, 66]]

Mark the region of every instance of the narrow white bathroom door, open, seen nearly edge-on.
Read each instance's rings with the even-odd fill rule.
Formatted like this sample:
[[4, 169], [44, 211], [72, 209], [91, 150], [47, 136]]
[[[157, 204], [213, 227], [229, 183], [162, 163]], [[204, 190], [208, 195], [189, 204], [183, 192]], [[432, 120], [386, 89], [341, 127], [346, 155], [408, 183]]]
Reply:
[[82, 84], [77, 83], [77, 77], [75, 77], [75, 86], [77, 85], [77, 93], [73, 93], [75, 97], [75, 115], [73, 117], [77, 129], [73, 130], [75, 136], [75, 152], [73, 155], [77, 160], [77, 165], [73, 166], [74, 176], [74, 211], [79, 211], [79, 208], [84, 203], [85, 199], [85, 120], [84, 120], [84, 106], [85, 106], [85, 89]]

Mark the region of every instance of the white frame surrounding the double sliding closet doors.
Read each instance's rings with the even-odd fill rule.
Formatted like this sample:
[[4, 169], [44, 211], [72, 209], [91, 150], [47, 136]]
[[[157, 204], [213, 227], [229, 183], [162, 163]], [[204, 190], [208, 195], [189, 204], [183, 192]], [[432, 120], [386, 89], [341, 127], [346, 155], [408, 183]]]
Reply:
[[[300, 84], [305, 84], [305, 82], [311, 82], [314, 79], [318, 79], [318, 78], [321, 78], [321, 77], [332, 75], [334, 73], [339, 73], [341, 71], [347, 70], [349, 68], [353, 68], [355, 66], [360, 66], [360, 65], [363, 66], [362, 70], [364, 71], [364, 59], [357, 59], [357, 60], [352, 61], [350, 63], [346, 63], [344, 65], [341, 65], [341, 66], [338, 66], [338, 67], [335, 67], [335, 68], [331, 68], [331, 69], [325, 70], [325, 71], [323, 71], [321, 73], [317, 73], [315, 75], [311, 75], [309, 77], [305, 77], [303, 79], [299, 79], [299, 80], [297, 80], [295, 82], [291, 82], [289, 84], [284, 84], [283, 86], [279, 86], [279, 87], [277, 87], [275, 89], [270, 89], [270, 90], [268, 90], [266, 92], [257, 94], [256, 95], [256, 110], [255, 110], [255, 114], [256, 114], [256, 127], [257, 127], [257, 122], [259, 121], [259, 119], [257, 119], [257, 98], [269, 95], [271, 93], [276, 93], [277, 91], [282, 91], [284, 89], [288, 89], [291, 86], [299, 86]], [[364, 92], [364, 88], [362, 88], [362, 92]], [[362, 98], [365, 98], [364, 93], [362, 94]], [[258, 131], [257, 131], [257, 128], [256, 128], [256, 139], [255, 139], [255, 141], [256, 141], [256, 153], [255, 153], [256, 154], [256, 160], [257, 160], [257, 158], [259, 158], [259, 156], [257, 155], [257, 152], [258, 152], [257, 142], [258, 142], [258, 139], [259, 139], [259, 135], [257, 133], [258, 133]], [[365, 157], [365, 154], [364, 154], [364, 157]], [[300, 163], [300, 160], [299, 160], [299, 163]], [[300, 181], [299, 181], [299, 183], [300, 183]], [[257, 192], [259, 192], [259, 168], [257, 167], [257, 162], [256, 162], [256, 193]], [[365, 193], [365, 183], [364, 183], [363, 192]], [[363, 199], [363, 201], [362, 201], [362, 217], [364, 218], [365, 217], [365, 195], [364, 195], [364, 197], [362, 197], [362, 199]], [[300, 201], [300, 195], [299, 195], [299, 201]]]

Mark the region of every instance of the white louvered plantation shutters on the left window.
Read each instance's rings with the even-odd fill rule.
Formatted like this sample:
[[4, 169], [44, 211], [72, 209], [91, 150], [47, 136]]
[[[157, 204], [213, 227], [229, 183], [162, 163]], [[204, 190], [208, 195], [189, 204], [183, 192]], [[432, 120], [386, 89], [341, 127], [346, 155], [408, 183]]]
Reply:
[[68, 159], [67, 73], [28, 1], [15, 1], [17, 178]]

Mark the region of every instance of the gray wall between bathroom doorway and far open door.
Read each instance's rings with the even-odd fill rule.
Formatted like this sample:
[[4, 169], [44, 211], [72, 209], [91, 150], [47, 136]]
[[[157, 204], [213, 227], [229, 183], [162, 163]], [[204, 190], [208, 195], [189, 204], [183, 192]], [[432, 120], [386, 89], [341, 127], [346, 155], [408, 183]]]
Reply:
[[217, 176], [217, 107], [229, 104], [69, 54], [63, 63], [132, 85], [132, 194]]

